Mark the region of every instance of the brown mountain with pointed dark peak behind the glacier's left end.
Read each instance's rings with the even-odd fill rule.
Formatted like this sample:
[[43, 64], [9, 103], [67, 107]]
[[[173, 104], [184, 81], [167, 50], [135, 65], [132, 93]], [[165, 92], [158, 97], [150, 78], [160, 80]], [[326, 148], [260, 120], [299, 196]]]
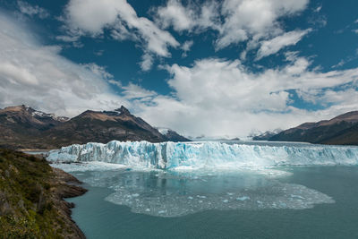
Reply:
[[132, 115], [125, 107], [103, 112], [87, 110], [48, 130], [44, 137], [55, 147], [89, 141], [165, 141], [157, 129]]

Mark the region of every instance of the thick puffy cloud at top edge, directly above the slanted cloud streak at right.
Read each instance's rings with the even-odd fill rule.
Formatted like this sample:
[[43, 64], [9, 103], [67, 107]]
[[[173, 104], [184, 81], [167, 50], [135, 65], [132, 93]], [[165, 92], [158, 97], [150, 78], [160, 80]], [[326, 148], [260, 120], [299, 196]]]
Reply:
[[225, 22], [217, 47], [277, 36], [283, 31], [277, 19], [299, 13], [307, 3], [308, 0], [226, 0], [222, 6]]

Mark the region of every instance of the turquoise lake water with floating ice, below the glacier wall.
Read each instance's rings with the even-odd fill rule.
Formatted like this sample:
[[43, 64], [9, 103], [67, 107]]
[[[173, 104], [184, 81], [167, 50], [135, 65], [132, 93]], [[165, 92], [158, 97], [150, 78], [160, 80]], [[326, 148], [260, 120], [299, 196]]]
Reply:
[[88, 238], [358, 238], [358, 167], [72, 172]]

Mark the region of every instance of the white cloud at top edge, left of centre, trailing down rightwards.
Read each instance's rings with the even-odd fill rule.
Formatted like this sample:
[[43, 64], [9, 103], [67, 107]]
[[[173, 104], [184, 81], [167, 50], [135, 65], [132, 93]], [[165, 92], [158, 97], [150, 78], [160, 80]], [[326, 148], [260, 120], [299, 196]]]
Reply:
[[145, 17], [139, 17], [125, 0], [71, 0], [65, 13], [72, 34], [98, 36], [105, 29], [112, 30], [112, 37], [138, 40], [143, 42], [146, 52], [165, 57], [170, 56], [168, 47], [179, 47], [168, 31], [160, 30]]

